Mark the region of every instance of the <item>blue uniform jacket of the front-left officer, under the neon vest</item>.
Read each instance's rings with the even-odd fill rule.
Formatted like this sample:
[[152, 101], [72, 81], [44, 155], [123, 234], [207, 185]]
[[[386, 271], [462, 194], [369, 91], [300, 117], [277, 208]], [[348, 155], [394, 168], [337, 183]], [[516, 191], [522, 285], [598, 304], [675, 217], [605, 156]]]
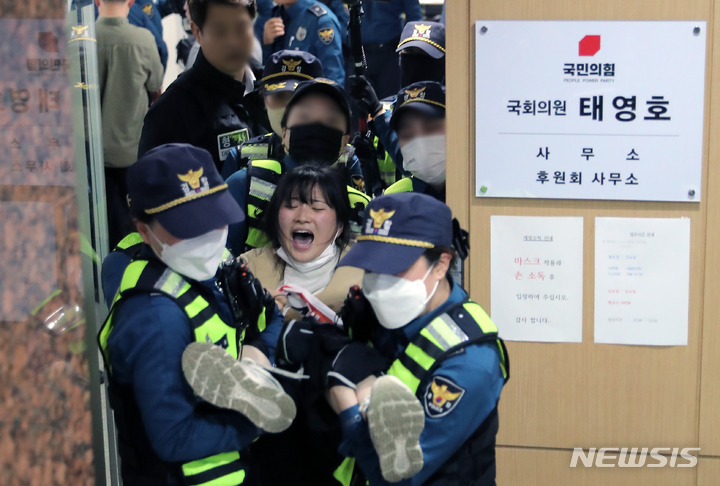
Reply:
[[[143, 245], [140, 259], [156, 259]], [[215, 279], [200, 283], [225, 322], [232, 322], [227, 299]], [[139, 293], [115, 311], [115, 327], [108, 341], [113, 379], [131, 386], [147, 438], [157, 456], [168, 463], [187, 462], [245, 449], [258, 429], [237, 412], [213, 408], [195, 396], [182, 371], [182, 354], [194, 342], [185, 311], [169, 297]], [[282, 315], [261, 334], [274, 356]]]

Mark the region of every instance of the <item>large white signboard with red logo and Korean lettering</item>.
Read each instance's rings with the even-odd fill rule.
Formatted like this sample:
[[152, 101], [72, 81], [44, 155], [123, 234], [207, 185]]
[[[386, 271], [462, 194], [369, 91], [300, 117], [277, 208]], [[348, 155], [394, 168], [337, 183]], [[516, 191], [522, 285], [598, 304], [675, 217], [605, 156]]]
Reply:
[[478, 21], [476, 195], [700, 201], [705, 32]]

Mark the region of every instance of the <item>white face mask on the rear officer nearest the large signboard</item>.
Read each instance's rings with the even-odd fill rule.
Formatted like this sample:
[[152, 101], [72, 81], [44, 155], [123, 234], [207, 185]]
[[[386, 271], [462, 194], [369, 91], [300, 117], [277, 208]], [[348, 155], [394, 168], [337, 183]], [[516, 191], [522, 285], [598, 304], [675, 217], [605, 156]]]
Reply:
[[418, 137], [405, 144], [400, 152], [403, 168], [412, 175], [430, 185], [445, 182], [445, 135]]

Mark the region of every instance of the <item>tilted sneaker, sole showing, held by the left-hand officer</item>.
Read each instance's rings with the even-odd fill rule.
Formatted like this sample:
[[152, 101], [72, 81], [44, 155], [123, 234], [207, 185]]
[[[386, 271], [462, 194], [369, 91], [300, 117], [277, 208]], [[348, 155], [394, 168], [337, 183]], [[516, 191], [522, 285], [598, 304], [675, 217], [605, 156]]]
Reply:
[[198, 342], [185, 349], [182, 367], [198, 396], [240, 412], [256, 427], [282, 432], [295, 419], [295, 402], [270, 373], [251, 359], [238, 361], [219, 346]]

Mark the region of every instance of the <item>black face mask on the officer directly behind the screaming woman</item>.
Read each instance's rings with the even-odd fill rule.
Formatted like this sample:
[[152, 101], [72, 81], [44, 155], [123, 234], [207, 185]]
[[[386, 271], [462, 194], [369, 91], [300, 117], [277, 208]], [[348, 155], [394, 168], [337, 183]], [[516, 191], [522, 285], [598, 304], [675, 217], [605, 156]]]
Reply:
[[298, 164], [320, 162], [334, 164], [340, 156], [343, 132], [322, 123], [295, 125], [290, 128], [288, 155]]

